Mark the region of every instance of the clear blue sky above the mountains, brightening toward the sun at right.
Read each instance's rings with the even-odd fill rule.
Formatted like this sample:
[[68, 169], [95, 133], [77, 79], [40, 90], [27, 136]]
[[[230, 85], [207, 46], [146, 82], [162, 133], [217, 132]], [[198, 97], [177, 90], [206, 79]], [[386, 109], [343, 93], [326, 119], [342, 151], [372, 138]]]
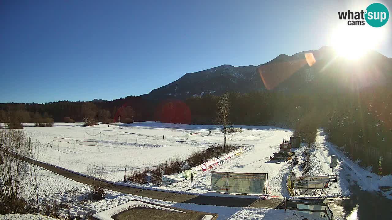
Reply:
[[[111, 100], [188, 72], [316, 50], [331, 44], [338, 11], [358, 2], [4, 0], [0, 102]], [[388, 57], [391, 23], [376, 48]]]

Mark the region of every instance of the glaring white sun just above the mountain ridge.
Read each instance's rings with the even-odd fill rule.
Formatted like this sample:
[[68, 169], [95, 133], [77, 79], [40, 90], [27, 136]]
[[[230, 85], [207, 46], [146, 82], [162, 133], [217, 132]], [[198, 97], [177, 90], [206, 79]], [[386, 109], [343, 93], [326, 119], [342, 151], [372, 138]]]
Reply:
[[382, 29], [379, 30], [368, 26], [341, 26], [331, 33], [330, 43], [338, 56], [357, 60], [376, 49], [384, 36]]

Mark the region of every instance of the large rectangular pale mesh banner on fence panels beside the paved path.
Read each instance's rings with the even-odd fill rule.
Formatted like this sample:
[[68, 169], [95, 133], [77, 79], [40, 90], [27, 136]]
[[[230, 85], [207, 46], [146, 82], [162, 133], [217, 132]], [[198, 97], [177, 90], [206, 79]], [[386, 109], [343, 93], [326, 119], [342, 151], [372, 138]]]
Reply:
[[267, 173], [211, 171], [211, 190], [228, 193], [264, 194]]

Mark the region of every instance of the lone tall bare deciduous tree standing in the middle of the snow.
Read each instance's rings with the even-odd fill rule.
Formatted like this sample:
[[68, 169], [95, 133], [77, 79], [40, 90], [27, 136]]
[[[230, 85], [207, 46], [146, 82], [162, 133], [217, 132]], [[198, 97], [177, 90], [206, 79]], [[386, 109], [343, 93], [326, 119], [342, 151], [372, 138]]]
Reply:
[[218, 99], [217, 111], [216, 111], [216, 119], [215, 123], [218, 125], [222, 125], [223, 128], [218, 127], [225, 136], [225, 142], [223, 144], [223, 151], [226, 151], [226, 134], [227, 127], [230, 125], [229, 115], [230, 115], [230, 97], [229, 94], [225, 93]]

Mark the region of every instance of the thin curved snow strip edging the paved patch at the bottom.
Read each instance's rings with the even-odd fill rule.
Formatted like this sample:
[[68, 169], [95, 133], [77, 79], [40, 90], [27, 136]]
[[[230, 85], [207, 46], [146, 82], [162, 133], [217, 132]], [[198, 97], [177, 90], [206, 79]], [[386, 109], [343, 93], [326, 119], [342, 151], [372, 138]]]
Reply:
[[125, 202], [123, 204], [120, 204], [118, 206], [114, 206], [113, 208], [101, 211], [99, 213], [95, 213], [93, 215], [93, 217], [97, 218], [99, 220], [113, 220], [113, 218], [111, 218], [111, 216], [116, 215], [117, 213], [120, 213], [123, 211], [127, 211], [128, 209], [136, 208], [136, 207], [147, 207], [147, 208], [151, 208], [151, 209], [161, 209], [164, 211], [182, 212], [182, 211], [178, 211], [176, 209], [169, 209], [169, 208], [162, 207], [162, 206], [154, 206], [154, 205], [147, 204], [147, 203], [140, 202], [140, 201], [129, 201], [129, 202]]

